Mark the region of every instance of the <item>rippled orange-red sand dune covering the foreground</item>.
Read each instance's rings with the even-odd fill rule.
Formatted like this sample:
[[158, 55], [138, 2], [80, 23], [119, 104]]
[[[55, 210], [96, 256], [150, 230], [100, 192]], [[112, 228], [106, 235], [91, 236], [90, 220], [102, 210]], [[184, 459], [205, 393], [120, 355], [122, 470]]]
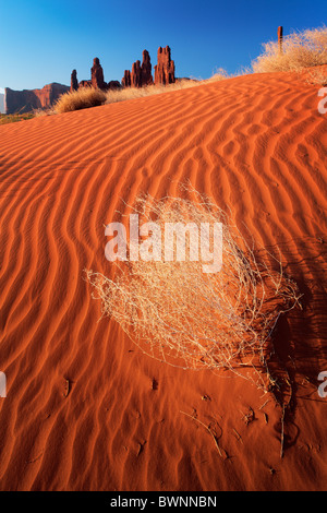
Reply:
[[[295, 74], [246, 75], [0, 127], [1, 490], [323, 490], [327, 115]], [[279, 246], [303, 310], [276, 331], [292, 408], [143, 355], [100, 318], [120, 199], [191, 180]], [[154, 386], [155, 384], [155, 386]], [[187, 415], [216, 433], [210, 432]], [[219, 454], [220, 452], [220, 454]]]

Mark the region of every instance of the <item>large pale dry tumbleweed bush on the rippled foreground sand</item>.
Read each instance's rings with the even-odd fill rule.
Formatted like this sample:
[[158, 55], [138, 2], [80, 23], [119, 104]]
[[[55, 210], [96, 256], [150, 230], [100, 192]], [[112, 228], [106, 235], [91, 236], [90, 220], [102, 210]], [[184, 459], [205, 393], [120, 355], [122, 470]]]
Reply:
[[[266, 351], [282, 312], [299, 299], [296, 287], [283, 275], [280, 262], [255, 251], [228, 216], [207, 198], [193, 201], [148, 195], [132, 213], [140, 225], [154, 220], [162, 241], [166, 223], [222, 223], [222, 267], [203, 271], [205, 261], [113, 262], [112, 279], [86, 271], [93, 297], [101, 300], [102, 315], [113, 318], [147, 355], [182, 368], [229, 369], [267, 390]], [[213, 248], [214, 235], [206, 240]], [[174, 250], [179, 243], [174, 240]], [[130, 248], [131, 249], [131, 248]]]

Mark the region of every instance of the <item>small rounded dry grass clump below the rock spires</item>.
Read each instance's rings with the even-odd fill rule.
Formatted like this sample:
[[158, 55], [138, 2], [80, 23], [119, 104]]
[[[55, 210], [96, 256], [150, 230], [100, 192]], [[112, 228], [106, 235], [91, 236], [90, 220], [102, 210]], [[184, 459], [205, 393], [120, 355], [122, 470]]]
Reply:
[[72, 110], [98, 107], [106, 102], [106, 93], [96, 87], [80, 87], [77, 91], [64, 93], [56, 102], [53, 109], [58, 114]]

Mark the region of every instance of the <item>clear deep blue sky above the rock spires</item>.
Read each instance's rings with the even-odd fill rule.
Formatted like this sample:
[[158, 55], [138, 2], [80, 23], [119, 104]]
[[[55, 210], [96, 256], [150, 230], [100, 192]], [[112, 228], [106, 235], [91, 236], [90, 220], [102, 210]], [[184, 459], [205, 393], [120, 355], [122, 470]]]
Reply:
[[250, 65], [277, 27], [327, 24], [327, 0], [0, 0], [0, 92], [89, 79], [99, 57], [105, 80], [169, 45], [177, 76], [207, 79]]

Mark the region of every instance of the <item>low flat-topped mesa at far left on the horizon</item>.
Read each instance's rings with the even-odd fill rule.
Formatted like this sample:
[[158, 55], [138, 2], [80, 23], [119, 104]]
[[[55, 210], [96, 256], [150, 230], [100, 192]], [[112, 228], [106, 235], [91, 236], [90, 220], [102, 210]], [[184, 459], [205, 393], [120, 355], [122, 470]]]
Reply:
[[5, 114], [23, 114], [31, 112], [34, 109], [49, 108], [59, 96], [68, 91], [70, 91], [68, 85], [57, 84], [56, 82], [45, 85], [41, 90], [13, 91], [5, 87]]

